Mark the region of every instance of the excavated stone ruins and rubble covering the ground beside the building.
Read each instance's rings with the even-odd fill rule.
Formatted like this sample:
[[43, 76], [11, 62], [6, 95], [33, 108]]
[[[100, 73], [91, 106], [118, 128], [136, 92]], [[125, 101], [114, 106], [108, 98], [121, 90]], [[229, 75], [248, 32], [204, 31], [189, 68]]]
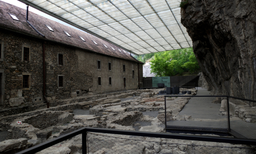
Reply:
[[[159, 90], [159, 89], [158, 89]], [[196, 94], [195, 89], [189, 89]], [[0, 142], [0, 149], [3, 152], [14, 150], [16, 152], [28, 147], [38, 145], [47, 140], [52, 140], [82, 127], [112, 128], [120, 130], [135, 130], [133, 126], [139, 127], [139, 131], [164, 132], [161, 126], [164, 124], [164, 96], [156, 95], [157, 90], [137, 90], [139, 97], [130, 96], [130, 100], [120, 102], [118, 98], [100, 98], [88, 102], [77, 102], [76, 108], [85, 108], [94, 104], [89, 109], [90, 115], [74, 115], [70, 112], [75, 108], [66, 111], [40, 110], [30, 114], [21, 114], [10, 117], [8, 126], [9, 139], [5, 143]], [[187, 94], [188, 95], [188, 94]], [[129, 97], [129, 96], [126, 96]], [[168, 97], [166, 108], [167, 121], [169, 120], [192, 120], [189, 115], [178, 115], [188, 103], [190, 97]], [[95, 103], [97, 102], [97, 104]], [[65, 105], [66, 106], [66, 105]], [[59, 106], [60, 108], [61, 106]], [[156, 117], [143, 115], [142, 112], [158, 112]], [[22, 117], [22, 115], [26, 115]], [[22, 118], [21, 118], [22, 117]], [[250, 117], [249, 117], [250, 118]], [[22, 121], [18, 125], [16, 121]], [[252, 121], [250, 119], [245, 119]], [[40, 121], [40, 123], [37, 123]], [[142, 126], [139, 122], [149, 122], [150, 126]], [[137, 122], [137, 123], [135, 123]], [[7, 123], [6, 123], [7, 124]], [[7, 125], [6, 125], [7, 127]], [[96, 135], [95, 135], [96, 134]], [[236, 145], [216, 142], [197, 142], [186, 140], [175, 140], [166, 138], [148, 138], [140, 136], [126, 136], [116, 134], [88, 133], [88, 144], [90, 154], [190, 154], [190, 153], [221, 153], [221, 148], [188, 145], [224, 145], [234, 147]], [[97, 135], [98, 134], [98, 135]], [[102, 136], [104, 135], [104, 136]], [[107, 137], [110, 136], [110, 137]], [[21, 142], [24, 138], [24, 144]], [[124, 139], [120, 139], [124, 138]], [[127, 138], [127, 139], [126, 139]], [[130, 140], [135, 139], [135, 140]], [[145, 141], [144, 141], [145, 140]], [[15, 145], [14, 145], [15, 143]], [[242, 145], [239, 145], [242, 146]], [[6, 148], [9, 147], [9, 148]], [[248, 149], [226, 148], [231, 153], [248, 153]], [[2, 152], [0, 151], [0, 152]], [[69, 140], [46, 148], [37, 154], [80, 154], [82, 153], [82, 135], [77, 135]]]

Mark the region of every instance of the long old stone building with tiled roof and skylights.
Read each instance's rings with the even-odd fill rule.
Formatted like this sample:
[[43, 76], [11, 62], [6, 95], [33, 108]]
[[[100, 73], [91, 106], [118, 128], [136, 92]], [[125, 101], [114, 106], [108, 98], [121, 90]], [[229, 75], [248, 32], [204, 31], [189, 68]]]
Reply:
[[109, 42], [33, 12], [30, 26], [26, 10], [2, 1], [0, 19], [3, 108], [142, 85], [143, 63]]

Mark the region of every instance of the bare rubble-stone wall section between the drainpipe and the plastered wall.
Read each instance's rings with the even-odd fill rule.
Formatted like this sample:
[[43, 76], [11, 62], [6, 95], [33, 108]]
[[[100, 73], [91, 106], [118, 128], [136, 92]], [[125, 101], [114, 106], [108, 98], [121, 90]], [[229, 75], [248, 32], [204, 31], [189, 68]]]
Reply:
[[[82, 95], [92, 88], [93, 76], [79, 71], [75, 52], [76, 48], [70, 46], [53, 42], [45, 44], [46, 96], [49, 100], [70, 98], [76, 90]], [[58, 64], [58, 54], [63, 55], [63, 65]], [[63, 75], [63, 87], [58, 87], [58, 75]]]

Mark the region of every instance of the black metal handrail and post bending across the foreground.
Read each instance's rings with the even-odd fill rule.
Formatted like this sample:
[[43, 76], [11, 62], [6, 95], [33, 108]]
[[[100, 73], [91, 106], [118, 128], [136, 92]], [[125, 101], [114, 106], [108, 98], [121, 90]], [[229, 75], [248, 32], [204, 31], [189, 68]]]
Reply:
[[140, 132], [132, 130], [116, 130], [116, 129], [107, 129], [107, 128], [90, 128], [84, 127], [79, 130], [75, 130], [53, 140], [49, 140], [32, 148], [28, 148], [16, 154], [34, 154], [40, 152], [50, 146], [54, 146], [62, 141], [68, 140], [76, 135], [82, 134], [82, 154], [87, 153], [87, 133], [107, 133], [107, 134], [119, 134], [119, 135], [130, 135], [130, 136], [144, 136], [144, 137], [153, 137], [153, 138], [169, 138], [169, 139], [180, 139], [180, 140], [197, 140], [197, 141], [206, 141], [206, 142], [222, 142], [222, 143], [231, 143], [231, 144], [247, 144], [247, 145], [256, 145], [256, 140], [247, 139], [247, 138], [230, 138], [230, 137], [220, 137], [220, 136], [200, 136], [192, 134], [173, 134], [173, 133], [158, 133], [158, 132]]

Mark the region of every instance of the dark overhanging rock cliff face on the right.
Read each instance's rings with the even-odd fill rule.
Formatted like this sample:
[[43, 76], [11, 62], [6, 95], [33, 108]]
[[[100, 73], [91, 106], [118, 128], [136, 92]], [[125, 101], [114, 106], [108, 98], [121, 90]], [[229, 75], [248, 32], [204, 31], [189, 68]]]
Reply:
[[256, 100], [255, 0], [189, 0], [181, 22], [211, 93]]

